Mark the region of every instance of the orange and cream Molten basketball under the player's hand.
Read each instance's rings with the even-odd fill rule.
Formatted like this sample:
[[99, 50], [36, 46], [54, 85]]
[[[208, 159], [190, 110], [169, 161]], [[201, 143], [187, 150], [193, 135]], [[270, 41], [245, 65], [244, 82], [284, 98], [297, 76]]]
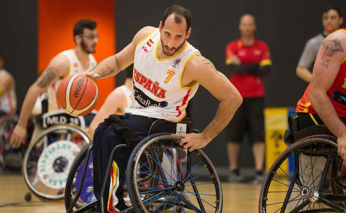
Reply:
[[89, 114], [99, 99], [97, 86], [85, 75], [73, 75], [61, 81], [56, 99], [65, 113], [72, 116]]

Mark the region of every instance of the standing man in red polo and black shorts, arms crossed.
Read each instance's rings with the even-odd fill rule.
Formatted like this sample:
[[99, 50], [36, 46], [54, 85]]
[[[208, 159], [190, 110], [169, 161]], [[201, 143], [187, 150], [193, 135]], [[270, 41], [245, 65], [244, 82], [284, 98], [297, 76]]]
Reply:
[[255, 183], [262, 183], [264, 160], [264, 86], [263, 76], [268, 75], [272, 61], [268, 46], [255, 39], [256, 23], [251, 14], [244, 14], [239, 22], [240, 39], [226, 46], [226, 65], [230, 81], [243, 97], [227, 129], [229, 182], [242, 181], [238, 168], [240, 142], [248, 133], [253, 144]]

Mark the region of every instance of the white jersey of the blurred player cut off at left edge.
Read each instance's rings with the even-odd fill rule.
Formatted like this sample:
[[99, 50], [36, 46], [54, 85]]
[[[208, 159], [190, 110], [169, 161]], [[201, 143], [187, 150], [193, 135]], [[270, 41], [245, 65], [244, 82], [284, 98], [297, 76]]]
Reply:
[[[0, 70], [0, 78], [3, 75], [10, 75], [6, 70], [1, 69]], [[11, 88], [6, 93], [2, 94], [0, 97], [0, 111], [10, 114], [13, 113], [16, 110], [17, 107], [17, 96], [15, 88]]]

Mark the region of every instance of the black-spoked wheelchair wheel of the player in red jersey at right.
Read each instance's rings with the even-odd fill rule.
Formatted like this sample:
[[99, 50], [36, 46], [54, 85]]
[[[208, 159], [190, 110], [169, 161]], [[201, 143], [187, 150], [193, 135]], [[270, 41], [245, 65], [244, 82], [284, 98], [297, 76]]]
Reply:
[[292, 144], [264, 178], [259, 211], [343, 212], [346, 196], [335, 182], [345, 169], [337, 163], [339, 158], [337, 144], [330, 139], [310, 138]]

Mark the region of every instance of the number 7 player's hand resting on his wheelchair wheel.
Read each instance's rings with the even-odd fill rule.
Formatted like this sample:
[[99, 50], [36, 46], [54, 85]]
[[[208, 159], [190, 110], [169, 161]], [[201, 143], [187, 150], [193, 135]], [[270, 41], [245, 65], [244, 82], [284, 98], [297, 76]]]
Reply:
[[172, 134], [173, 136], [182, 137], [179, 145], [184, 149], [189, 149], [192, 152], [195, 149], [200, 149], [206, 146], [210, 140], [203, 135], [203, 133], [190, 133], [190, 134]]

